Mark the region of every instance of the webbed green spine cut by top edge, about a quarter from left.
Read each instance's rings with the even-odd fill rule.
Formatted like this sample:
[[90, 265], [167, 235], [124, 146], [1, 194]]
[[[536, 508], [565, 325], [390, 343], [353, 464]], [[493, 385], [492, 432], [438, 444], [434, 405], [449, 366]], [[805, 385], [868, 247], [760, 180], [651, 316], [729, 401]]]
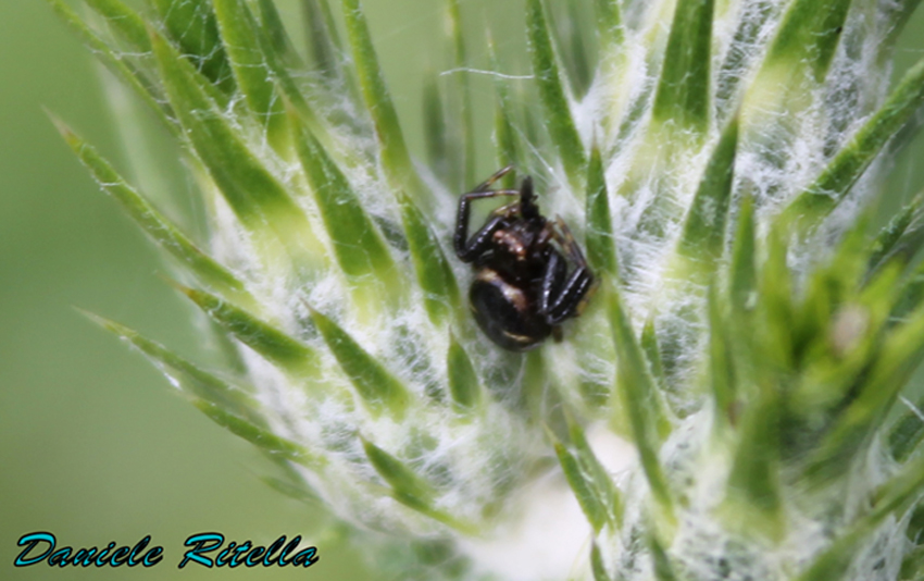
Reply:
[[286, 127], [285, 111], [260, 50], [255, 20], [246, 0], [212, 0], [212, 5], [237, 86], [278, 150], [279, 134]]

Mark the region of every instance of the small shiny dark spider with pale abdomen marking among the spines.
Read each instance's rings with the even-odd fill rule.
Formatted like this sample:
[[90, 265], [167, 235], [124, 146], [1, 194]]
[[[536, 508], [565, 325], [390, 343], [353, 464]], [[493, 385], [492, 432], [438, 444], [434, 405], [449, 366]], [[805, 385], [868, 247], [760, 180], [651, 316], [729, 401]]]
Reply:
[[[511, 169], [459, 198], [453, 242], [455, 255], [474, 262], [469, 299], [478, 326], [504, 349], [525, 351], [550, 334], [561, 341], [559, 325], [580, 314], [594, 273], [561, 218], [550, 221], [539, 213], [532, 178], [525, 177], [519, 190], [490, 189]], [[470, 239], [471, 201], [496, 196], [520, 200], [491, 212]], [[571, 274], [567, 261], [575, 267]]]

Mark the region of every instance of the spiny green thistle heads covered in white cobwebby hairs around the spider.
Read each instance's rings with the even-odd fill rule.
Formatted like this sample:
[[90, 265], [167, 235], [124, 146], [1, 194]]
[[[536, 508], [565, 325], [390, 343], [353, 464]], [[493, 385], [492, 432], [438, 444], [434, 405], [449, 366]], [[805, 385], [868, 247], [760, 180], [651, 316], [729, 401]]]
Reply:
[[[924, 209], [867, 210], [924, 101], [924, 63], [889, 88], [916, 0], [525, 0], [527, 71], [489, 32], [471, 59], [448, 0], [429, 168], [359, 0], [304, 0], [304, 54], [272, 0], [49, 2], [180, 145], [204, 235], [55, 121], [232, 361], [91, 317], [405, 578], [924, 576]], [[451, 245], [478, 67], [504, 187], [532, 175], [598, 281], [525, 355]]]

